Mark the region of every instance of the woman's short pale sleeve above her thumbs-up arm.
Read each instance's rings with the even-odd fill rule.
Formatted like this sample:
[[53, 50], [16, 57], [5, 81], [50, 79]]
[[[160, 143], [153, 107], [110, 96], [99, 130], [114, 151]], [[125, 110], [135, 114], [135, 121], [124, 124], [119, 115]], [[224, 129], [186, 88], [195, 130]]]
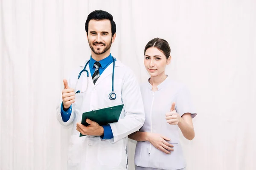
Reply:
[[184, 113], [191, 113], [191, 117], [194, 118], [197, 115], [197, 113], [195, 113], [190, 92], [186, 86], [183, 86], [177, 94], [176, 111], [180, 116]]

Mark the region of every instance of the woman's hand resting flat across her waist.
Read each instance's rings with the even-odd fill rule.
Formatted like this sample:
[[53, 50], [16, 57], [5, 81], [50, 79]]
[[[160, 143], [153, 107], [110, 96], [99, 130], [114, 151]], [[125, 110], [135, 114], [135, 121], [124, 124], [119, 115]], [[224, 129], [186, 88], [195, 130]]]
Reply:
[[148, 133], [147, 138], [148, 142], [164, 153], [171, 154], [170, 151], [173, 151], [173, 145], [166, 142], [170, 141], [171, 139], [157, 133]]

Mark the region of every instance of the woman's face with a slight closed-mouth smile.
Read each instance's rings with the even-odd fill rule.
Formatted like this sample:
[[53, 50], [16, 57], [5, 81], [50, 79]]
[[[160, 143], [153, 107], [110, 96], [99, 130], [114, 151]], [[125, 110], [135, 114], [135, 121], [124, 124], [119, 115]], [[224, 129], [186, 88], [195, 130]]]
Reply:
[[166, 56], [158, 48], [150, 47], [145, 52], [144, 65], [151, 77], [165, 74], [166, 65], [171, 62], [171, 56]]

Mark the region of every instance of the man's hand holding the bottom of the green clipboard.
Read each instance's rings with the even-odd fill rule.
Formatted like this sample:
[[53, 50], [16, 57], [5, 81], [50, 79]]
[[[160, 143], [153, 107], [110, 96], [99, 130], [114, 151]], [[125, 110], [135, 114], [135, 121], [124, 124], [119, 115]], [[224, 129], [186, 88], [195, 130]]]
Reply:
[[102, 136], [104, 134], [104, 129], [97, 122], [93, 122], [90, 119], [86, 119], [89, 126], [84, 126], [80, 122], [76, 124], [76, 130], [78, 130], [83, 135], [94, 135]]

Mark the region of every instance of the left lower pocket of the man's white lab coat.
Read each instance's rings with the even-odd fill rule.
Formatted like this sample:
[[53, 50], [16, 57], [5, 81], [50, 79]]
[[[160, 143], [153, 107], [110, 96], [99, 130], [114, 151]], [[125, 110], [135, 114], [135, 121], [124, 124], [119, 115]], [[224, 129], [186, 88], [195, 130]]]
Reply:
[[70, 137], [70, 145], [68, 149], [68, 164], [79, 164], [81, 161], [81, 139], [78, 135]]

